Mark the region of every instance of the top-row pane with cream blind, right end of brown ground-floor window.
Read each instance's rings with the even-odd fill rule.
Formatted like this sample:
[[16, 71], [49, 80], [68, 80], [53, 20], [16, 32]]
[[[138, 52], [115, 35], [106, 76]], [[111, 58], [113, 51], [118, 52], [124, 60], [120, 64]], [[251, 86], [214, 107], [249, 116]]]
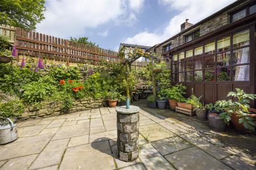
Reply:
[[233, 36], [233, 46], [249, 45], [249, 30], [238, 32]]

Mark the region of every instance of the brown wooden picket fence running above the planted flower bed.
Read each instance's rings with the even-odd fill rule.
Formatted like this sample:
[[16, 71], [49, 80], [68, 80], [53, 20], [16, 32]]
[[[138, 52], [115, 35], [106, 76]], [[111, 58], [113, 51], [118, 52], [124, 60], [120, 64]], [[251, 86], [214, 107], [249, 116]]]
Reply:
[[[16, 46], [16, 58], [18, 61], [23, 56], [44, 58], [55, 63], [90, 63], [106, 60], [117, 62], [117, 52], [99, 48], [97, 46], [84, 45], [69, 40], [61, 39], [43, 33], [27, 31], [9, 25], [0, 25], [0, 35], [7, 37], [9, 42]], [[144, 62], [134, 62], [133, 69], [141, 70], [146, 66]]]

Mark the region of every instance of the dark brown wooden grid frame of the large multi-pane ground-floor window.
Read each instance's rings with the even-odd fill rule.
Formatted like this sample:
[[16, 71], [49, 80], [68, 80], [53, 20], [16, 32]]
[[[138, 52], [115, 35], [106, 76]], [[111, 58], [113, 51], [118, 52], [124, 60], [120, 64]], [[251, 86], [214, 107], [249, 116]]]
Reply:
[[[244, 45], [244, 46], [238, 46], [238, 47], [236, 47], [236, 48], [234, 48], [234, 46], [233, 46], [233, 36], [234, 35], [236, 35], [237, 33], [239, 33], [239, 32], [243, 32], [243, 31], [249, 31], [249, 44], [247, 44], [247, 45]], [[250, 30], [250, 27], [246, 27], [246, 28], [243, 28], [243, 29], [238, 29], [238, 30], [236, 30], [236, 31], [233, 31], [233, 32], [229, 32], [229, 33], [227, 33], [227, 34], [224, 34], [224, 35], [221, 35], [221, 36], [216, 36], [216, 37], [213, 37], [213, 38], [211, 38], [211, 39], [208, 39], [208, 40], [205, 40], [205, 41], [203, 41], [203, 42], [200, 42], [199, 44], [195, 44], [195, 45], [193, 45], [192, 47], [191, 46], [189, 46], [188, 48], [184, 48], [184, 49], [182, 49], [182, 50], [180, 50], [180, 51], [176, 51], [172, 56], [174, 56], [175, 54], [177, 54], [177, 61], [176, 61], [176, 65], [177, 65], [177, 70], [176, 70], [176, 72], [174, 72], [174, 70], [172, 69], [171, 70], [171, 75], [172, 76], [174, 76], [174, 74], [175, 74], [175, 76], [176, 76], [176, 83], [177, 82], [179, 82], [180, 83], [180, 81], [179, 81], [179, 74], [180, 73], [184, 73], [184, 82], [181, 82], [181, 83], [186, 83], [186, 82], [195, 82], [195, 71], [202, 71], [203, 72], [203, 79], [202, 79], [202, 81], [201, 82], [197, 82], [197, 83], [207, 83], [207, 82], [205, 82], [205, 70], [214, 70], [214, 75], [215, 75], [215, 79], [214, 79], [214, 82], [218, 82], [218, 83], [220, 83], [219, 81], [218, 81], [218, 78], [217, 78], [217, 76], [218, 76], [218, 74], [217, 74], [217, 70], [220, 70], [220, 69], [222, 69], [222, 68], [226, 68], [226, 69], [228, 69], [230, 72], [228, 73], [229, 74], [229, 80], [226, 80], [226, 81], [222, 81], [222, 82], [250, 82], [250, 72], [249, 72], [249, 80], [245, 80], [245, 81], [233, 81], [233, 79], [234, 79], [234, 75], [233, 75], [233, 68], [234, 67], [237, 67], [237, 66], [243, 66], [243, 65], [249, 65], [249, 70], [250, 70], [250, 67], [251, 67], [251, 63], [250, 62], [247, 62], [247, 63], [239, 63], [239, 64], [237, 64], [237, 63], [233, 63], [233, 52], [234, 52], [234, 50], [238, 50], [238, 49], [243, 49], [243, 48], [249, 48], [249, 59], [251, 59], [251, 57], [250, 57], [250, 43], [251, 43], [251, 40], [250, 40], [250, 34], [251, 34], [251, 30]], [[229, 46], [229, 49], [227, 49], [227, 50], [223, 50], [223, 51], [221, 51], [221, 52], [217, 52], [217, 48], [218, 48], [218, 46], [217, 46], [217, 41], [218, 40], [221, 40], [221, 39], [224, 39], [225, 37], [229, 37], [229, 41], [230, 41], [230, 46]], [[215, 45], [215, 50], [214, 50], [214, 53], [212, 53], [212, 54], [205, 54], [205, 44], [209, 44], [210, 42], [213, 42], [214, 41], [214, 45]], [[196, 55], [195, 56], [195, 49], [196, 48], [199, 48], [200, 46], [202, 46], [203, 47], [203, 53], [202, 54], [199, 54], [199, 55]], [[188, 51], [190, 51], [190, 50], [192, 50], [192, 56], [191, 57], [189, 57], [189, 58], [187, 58], [186, 57], [186, 54], [187, 54], [187, 52]], [[179, 59], [179, 54], [181, 53], [181, 52], [183, 52], [184, 53], [184, 59], [182, 60], [182, 61], [180, 61], [180, 59]], [[224, 54], [224, 53], [230, 53], [229, 54], [229, 65], [224, 65], [224, 66], [218, 66], [217, 65], [217, 55], [218, 54]], [[210, 57], [210, 56], [213, 56], [213, 58], [215, 59], [215, 63], [214, 63], [214, 66], [213, 67], [205, 67], [205, 58], [206, 57]], [[195, 69], [195, 59], [198, 59], [198, 58], [201, 58], [202, 59], [202, 68], [201, 69]], [[187, 61], [192, 61], [192, 69], [191, 70], [187, 70]], [[184, 70], [180, 70], [180, 62], [184, 62]], [[173, 62], [173, 59], [171, 59], [171, 65], [172, 65], [172, 67], [174, 67], [174, 62]], [[187, 73], [188, 72], [191, 72], [192, 73], [192, 81], [187, 81]], [[245, 78], [246, 79], [246, 78]], [[174, 80], [173, 78], [172, 78], [172, 80]]]

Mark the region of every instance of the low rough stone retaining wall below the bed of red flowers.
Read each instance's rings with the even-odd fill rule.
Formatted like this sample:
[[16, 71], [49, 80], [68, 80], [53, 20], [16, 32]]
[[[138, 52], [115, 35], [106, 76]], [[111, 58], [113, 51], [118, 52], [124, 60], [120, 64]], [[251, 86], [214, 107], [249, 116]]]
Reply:
[[[94, 108], [106, 107], [107, 101], [103, 99], [92, 100], [92, 99], [80, 99], [73, 101], [73, 107], [69, 113], [85, 111]], [[20, 117], [20, 120], [26, 120], [28, 118], [36, 118], [36, 117], [49, 117], [53, 115], [65, 114], [61, 112], [62, 103], [46, 103], [43, 104], [43, 107], [38, 108], [26, 108], [25, 112]]]

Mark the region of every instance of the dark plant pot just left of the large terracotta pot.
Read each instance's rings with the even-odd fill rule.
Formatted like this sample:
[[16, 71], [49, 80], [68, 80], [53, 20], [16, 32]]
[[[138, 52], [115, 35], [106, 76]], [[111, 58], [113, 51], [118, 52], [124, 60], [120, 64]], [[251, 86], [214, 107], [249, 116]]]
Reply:
[[226, 124], [225, 122], [219, 117], [217, 113], [209, 113], [209, 126], [210, 129], [215, 131], [225, 131]]

